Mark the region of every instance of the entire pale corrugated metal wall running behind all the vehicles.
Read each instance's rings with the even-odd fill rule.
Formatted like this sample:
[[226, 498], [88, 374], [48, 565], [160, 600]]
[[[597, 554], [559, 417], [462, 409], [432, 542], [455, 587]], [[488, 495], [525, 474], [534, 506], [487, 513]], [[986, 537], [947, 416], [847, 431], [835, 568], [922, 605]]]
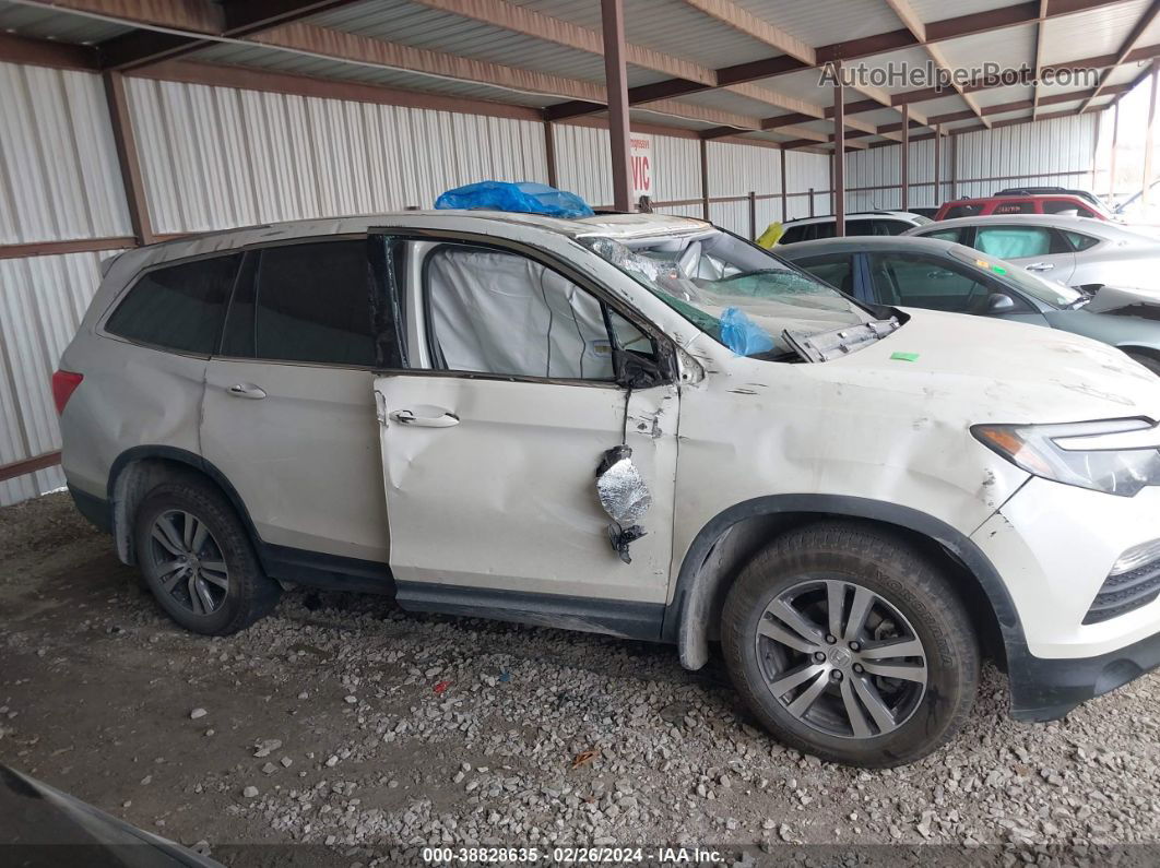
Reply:
[[[538, 122], [132, 78], [126, 93], [153, 228], [162, 234], [426, 207], [442, 190], [488, 177], [548, 180]], [[0, 64], [0, 243], [131, 235], [99, 76]], [[980, 174], [1090, 168], [1094, 123], [962, 137], [960, 191], [970, 195], [966, 178]], [[608, 132], [557, 124], [553, 134], [560, 187], [610, 203]], [[662, 134], [653, 141], [654, 199], [699, 199], [699, 141]], [[786, 153], [783, 214], [777, 149], [706, 147], [709, 196], [738, 198], [712, 203], [715, 221], [748, 234], [751, 191], [766, 197], [756, 202], [759, 233], [773, 220], [831, 213], [828, 156]], [[927, 180], [929, 151], [929, 143], [912, 146], [913, 180]], [[848, 183], [897, 184], [890, 175], [897, 163], [897, 148], [854, 154]], [[914, 204], [925, 202], [920, 190]], [[850, 207], [894, 204], [885, 192], [870, 198]], [[699, 202], [659, 210], [701, 216]], [[0, 465], [59, 447], [49, 378], [108, 255], [0, 260]], [[0, 482], [0, 504], [61, 482], [58, 469]]]

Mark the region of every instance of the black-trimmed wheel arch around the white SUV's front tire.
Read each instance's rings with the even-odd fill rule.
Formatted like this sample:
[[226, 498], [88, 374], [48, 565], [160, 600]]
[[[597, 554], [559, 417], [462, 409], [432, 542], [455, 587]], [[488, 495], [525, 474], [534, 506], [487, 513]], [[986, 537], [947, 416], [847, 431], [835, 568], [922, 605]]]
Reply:
[[[1027, 643], [1015, 604], [991, 560], [965, 534], [908, 506], [842, 495], [770, 495], [734, 504], [694, 538], [666, 607], [662, 639], [677, 644], [681, 664], [699, 669], [709, 659], [725, 595], [738, 571], [777, 534], [827, 519], [856, 519], [889, 528], [957, 568], [959, 578], [983, 592], [964, 595], [972, 619], [994, 632], [1007, 661], [1022, 659]], [[967, 585], [970, 588], [970, 585]], [[985, 605], [980, 605], [984, 604]], [[987, 636], [980, 636], [986, 640]]]

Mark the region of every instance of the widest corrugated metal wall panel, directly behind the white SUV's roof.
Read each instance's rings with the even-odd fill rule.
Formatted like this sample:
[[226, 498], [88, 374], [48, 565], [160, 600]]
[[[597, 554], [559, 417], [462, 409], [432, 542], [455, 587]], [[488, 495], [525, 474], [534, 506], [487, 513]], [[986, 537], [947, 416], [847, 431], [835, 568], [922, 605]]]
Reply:
[[537, 122], [126, 83], [159, 233], [430, 207], [481, 178], [548, 181]]

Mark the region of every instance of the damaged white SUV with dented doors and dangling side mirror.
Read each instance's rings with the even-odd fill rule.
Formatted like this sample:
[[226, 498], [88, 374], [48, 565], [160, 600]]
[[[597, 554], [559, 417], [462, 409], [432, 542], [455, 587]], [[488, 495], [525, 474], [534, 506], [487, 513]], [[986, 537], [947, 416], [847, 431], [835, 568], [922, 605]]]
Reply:
[[291, 584], [719, 640], [780, 739], [890, 766], [980, 657], [1046, 721], [1160, 663], [1160, 379], [868, 308], [698, 220], [405, 212], [131, 250], [53, 380], [64, 469], [161, 607]]

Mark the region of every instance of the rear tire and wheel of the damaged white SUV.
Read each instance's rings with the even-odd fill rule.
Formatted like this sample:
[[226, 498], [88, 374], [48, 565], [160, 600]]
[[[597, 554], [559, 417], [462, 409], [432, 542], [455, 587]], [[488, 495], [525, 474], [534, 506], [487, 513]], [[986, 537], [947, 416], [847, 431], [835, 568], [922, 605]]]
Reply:
[[196, 476], [162, 482], [145, 496], [133, 548], [161, 608], [194, 633], [237, 633], [273, 611], [282, 593], [229, 501]]

